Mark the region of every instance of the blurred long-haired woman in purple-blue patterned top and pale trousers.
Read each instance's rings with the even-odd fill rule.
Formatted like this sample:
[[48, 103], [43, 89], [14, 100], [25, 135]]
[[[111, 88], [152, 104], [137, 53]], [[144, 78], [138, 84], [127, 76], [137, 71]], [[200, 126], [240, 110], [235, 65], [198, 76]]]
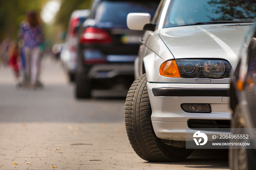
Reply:
[[25, 86], [37, 86], [40, 44], [44, 42], [44, 34], [40, 26], [37, 12], [29, 11], [26, 20], [21, 23], [20, 37], [24, 40], [25, 51]]

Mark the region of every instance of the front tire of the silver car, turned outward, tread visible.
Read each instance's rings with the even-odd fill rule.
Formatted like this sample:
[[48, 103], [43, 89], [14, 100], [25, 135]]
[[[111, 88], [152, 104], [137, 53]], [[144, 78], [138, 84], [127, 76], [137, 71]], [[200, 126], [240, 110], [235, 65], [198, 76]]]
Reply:
[[157, 138], [151, 123], [146, 74], [138, 77], [126, 97], [125, 128], [136, 154], [150, 162], [172, 162], [187, 158], [193, 150], [169, 146]]

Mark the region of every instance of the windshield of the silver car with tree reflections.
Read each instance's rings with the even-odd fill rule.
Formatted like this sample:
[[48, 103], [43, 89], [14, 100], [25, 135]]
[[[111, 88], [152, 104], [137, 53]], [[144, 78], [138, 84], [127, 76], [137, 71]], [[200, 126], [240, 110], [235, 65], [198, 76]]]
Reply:
[[203, 22], [253, 21], [256, 0], [172, 0], [164, 28]]

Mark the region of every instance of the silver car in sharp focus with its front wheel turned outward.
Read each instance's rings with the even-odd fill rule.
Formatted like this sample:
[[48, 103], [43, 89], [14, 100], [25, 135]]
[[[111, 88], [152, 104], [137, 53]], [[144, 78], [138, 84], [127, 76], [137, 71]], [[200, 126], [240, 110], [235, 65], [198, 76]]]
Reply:
[[162, 0], [152, 20], [129, 13], [128, 28], [147, 30], [125, 102], [127, 135], [140, 158], [180, 161], [192, 152], [186, 135], [230, 134], [219, 128], [230, 128], [230, 74], [255, 7], [251, 0]]

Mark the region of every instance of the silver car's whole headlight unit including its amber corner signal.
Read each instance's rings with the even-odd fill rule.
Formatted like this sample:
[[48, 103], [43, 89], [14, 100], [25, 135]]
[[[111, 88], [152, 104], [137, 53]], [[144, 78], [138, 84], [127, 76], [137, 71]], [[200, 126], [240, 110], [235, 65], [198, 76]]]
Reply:
[[[175, 69], [169, 69], [170, 66]], [[177, 70], [182, 78], [226, 78], [230, 77], [232, 66], [223, 59], [172, 59], [161, 65], [160, 75], [174, 77], [170, 75]]]

